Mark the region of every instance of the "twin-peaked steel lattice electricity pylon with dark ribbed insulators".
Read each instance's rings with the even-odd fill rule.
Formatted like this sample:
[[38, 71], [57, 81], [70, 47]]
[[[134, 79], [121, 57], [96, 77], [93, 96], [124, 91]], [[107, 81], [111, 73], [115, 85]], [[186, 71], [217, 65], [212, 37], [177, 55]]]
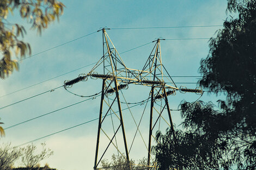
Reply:
[[[161, 39], [157, 39], [155, 42], [155, 46], [151, 51], [149, 58], [145, 62], [144, 67], [142, 70], [136, 70], [132, 68], [126, 67], [124, 61], [121, 59], [117, 49], [114, 47], [111, 39], [109, 38], [106, 29], [102, 29], [102, 38], [103, 38], [103, 56], [97, 62], [97, 64], [93, 67], [93, 69], [87, 74], [80, 76], [74, 80], [66, 81], [65, 86], [72, 85], [77, 83], [78, 81], [84, 80], [87, 77], [92, 78], [99, 78], [102, 79], [102, 89], [101, 89], [101, 100], [100, 100], [100, 114], [99, 114], [99, 124], [97, 128], [97, 140], [96, 140], [96, 152], [95, 152], [95, 160], [94, 160], [94, 169], [97, 169], [100, 161], [102, 160], [103, 156], [105, 155], [107, 149], [113, 144], [113, 146], [118, 150], [120, 154], [122, 154], [119, 149], [117, 142], [114, 143], [113, 140], [118, 133], [118, 130], [121, 128], [122, 138], [123, 138], [123, 145], [125, 149], [125, 158], [127, 162], [130, 161], [129, 158], [129, 151], [127, 148], [127, 141], [124, 129], [124, 119], [122, 115], [121, 109], [121, 102], [119, 98], [119, 91], [121, 89], [125, 89], [128, 87], [129, 84], [135, 85], [143, 85], [151, 87], [150, 90], [150, 119], [149, 119], [149, 136], [148, 136], [148, 169], [150, 167], [150, 159], [151, 159], [151, 137], [153, 136], [153, 130], [156, 127], [157, 122], [160, 121], [160, 118], [164, 114], [164, 111], [168, 115], [168, 122], [170, 129], [172, 130], [172, 135], [174, 138], [174, 143], [176, 145], [176, 138], [175, 138], [175, 131], [172, 122], [172, 116], [170, 114], [170, 108], [168, 103], [167, 96], [175, 95], [176, 91], [179, 88], [175, 85], [173, 79], [170, 77], [169, 73], [167, 72], [166, 68], [162, 64], [162, 57], [161, 57], [161, 47], [160, 41]], [[95, 72], [96, 70], [99, 71], [100, 66], [103, 66], [102, 74]], [[167, 84], [168, 83], [168, 84]], [[189, 91], [190, 90], [190, 91]], [[194, 90], [194, 89], [180, 89], [183, 92], [197, 92], [202, 93], [202, 91]], [[111, 103], [107, 103], [105, 98], [110, 95], [115, 94], [114, 99]], [[107, 97], [108, 98], [108, 97]], [[163, 99], [164, 106], [160, 109], [157, 109], [154, 104], [157, 100]], [[103, 111], [103, 105], [105, 104], [105, 111]], [[114, 103], [117, 104], [118, 107], [118, 115], [117, 112], [113, 111]], [[153, 121], [153, 114], [158, 114], [157, 118]], [[113, 112], [113, 113], [112, 113]], [[114, 135], [112, 138], [108, 137], [109, 143], [99, 158], [99, 147], [100, 147], [100, 133], [103, 126], [103, 121], [106, 120], [106, 116], [115, 114], [119, 119], [119, 124], [116, 129], [114, 129]], [[137, 127], [138, 128], [138, 127]], [[106, 135], [105, 131], [103, 133]], [[115, 140], [116, 141], [116, 140]], [[119, 145], [120, 146], [120, 145]]]

